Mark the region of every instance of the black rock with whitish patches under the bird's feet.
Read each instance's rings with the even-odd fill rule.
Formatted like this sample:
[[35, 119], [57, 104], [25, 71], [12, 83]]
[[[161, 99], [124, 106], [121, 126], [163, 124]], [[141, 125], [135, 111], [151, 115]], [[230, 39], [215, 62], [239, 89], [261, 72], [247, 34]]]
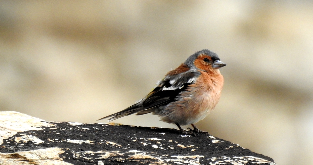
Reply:
[[0, 164], [264, 164], [273, 159], [208, 134], [176, 129], [46, 122], [0, 112]]

